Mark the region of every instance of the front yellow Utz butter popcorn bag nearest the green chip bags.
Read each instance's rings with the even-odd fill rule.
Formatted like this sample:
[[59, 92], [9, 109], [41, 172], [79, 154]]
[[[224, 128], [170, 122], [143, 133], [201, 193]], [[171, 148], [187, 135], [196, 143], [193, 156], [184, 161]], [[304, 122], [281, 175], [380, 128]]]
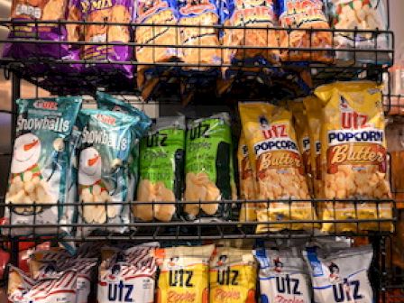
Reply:
[[[308, 182], [298, 150], [292, 115], [286, 109], [268, 103], [239, 103], [243, 133], [250, 152], [250, 161], [256, 171], [258, 199], [308, 199]], [[310, 202], [257, 203], [257, 233], [311, 228], [308, 223], [274, 224], [288, 220], [316, 219]]]

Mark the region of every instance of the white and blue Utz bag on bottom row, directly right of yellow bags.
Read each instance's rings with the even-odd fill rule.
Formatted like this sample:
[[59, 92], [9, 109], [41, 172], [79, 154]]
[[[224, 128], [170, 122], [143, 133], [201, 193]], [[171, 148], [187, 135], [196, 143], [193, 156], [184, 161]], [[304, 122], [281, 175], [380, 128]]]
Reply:
[[258, 249], [253, 253], [260, 263], [262, 302], [311, 302], [306, 264], [296, 251]]

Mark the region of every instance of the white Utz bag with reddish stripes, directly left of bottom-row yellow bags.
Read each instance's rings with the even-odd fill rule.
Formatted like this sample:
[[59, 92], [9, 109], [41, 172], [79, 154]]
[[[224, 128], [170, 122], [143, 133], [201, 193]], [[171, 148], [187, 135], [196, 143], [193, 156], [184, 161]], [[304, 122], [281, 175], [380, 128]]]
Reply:
[[155, 249], [155, 245], [138, 245], [104, 260], [99, 267], [97, 302], [154, 302]]

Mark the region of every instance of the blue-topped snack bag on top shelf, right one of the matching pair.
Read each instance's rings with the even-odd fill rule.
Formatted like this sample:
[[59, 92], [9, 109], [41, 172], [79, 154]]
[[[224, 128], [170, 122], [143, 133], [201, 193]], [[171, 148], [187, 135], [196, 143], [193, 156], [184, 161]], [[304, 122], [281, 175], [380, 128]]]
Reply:
[[[199, 48], [184, 48], [182, 58], [189, 64], [220, 65], [222, 57], [219, 49], [204, 48], [204, 46], [219, 46], [218, 30], [213, 25], [219, 23], [217, 0], [193, 1], [179, 0], [179, 24], [194, 25], [179, 27], [180, 45], [199, 46]], [[204, 26], [211, 26], [204, 27]], [[186, 68], [208, 69], [208, 68]]]

